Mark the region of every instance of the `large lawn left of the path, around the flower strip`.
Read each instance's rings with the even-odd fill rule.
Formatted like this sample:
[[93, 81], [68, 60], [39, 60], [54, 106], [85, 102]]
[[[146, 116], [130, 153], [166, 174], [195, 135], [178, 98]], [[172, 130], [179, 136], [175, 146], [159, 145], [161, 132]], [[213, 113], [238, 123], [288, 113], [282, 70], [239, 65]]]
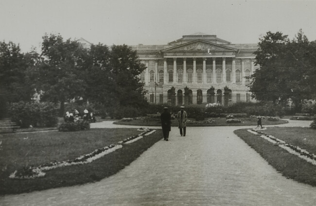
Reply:
[[99, 181], [134, 161], [161, 139], [161, 132], [141, 138], [92, 163], [57, 168], [45, 177], [30, 180], [10, 179], [9, 175], [26, 166], [74, 159], [127, 137], [137, 129], [90, 129], [81, 132], [14, 133], [0, 135], [0, 194], [14, 194]]

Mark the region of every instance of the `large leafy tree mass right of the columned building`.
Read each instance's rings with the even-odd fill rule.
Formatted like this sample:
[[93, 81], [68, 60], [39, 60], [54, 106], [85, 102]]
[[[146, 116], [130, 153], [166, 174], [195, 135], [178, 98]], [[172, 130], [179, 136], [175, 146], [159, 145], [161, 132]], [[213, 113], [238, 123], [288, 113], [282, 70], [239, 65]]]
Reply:
[[280, 32], [268, 32], [260, 40], [255, 54], [261, 68], [251, 75], [252, 96], [282, 105], [292, 99], [296, 106], [315, 98], [315, 44], [301, 30], [292, 41]]

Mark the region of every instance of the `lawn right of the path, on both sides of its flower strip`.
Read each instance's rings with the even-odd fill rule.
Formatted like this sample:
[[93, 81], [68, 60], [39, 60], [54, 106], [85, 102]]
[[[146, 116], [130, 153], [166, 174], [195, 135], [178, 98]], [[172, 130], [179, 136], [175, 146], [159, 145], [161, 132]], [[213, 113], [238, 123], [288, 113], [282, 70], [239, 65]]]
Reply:
[[[298, 146], [309, 153], [316, 154], [316, 130], [301, 127], [269, 127], [265, 134], [277, 137], [286, 143]], [[316, 166], [290, 154], [277, 145], [268, 142], [246, 129], [234, 133], [242, 138], [250, 147], [258, 152], [272, 167], [287, 178], [316, 187]]]

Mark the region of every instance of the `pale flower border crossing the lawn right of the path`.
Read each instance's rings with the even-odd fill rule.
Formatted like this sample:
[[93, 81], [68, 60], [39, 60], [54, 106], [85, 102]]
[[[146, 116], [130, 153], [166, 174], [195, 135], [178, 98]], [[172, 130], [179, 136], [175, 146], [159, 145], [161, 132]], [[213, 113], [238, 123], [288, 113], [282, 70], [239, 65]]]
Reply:
[[309, 153], [306, 150], [301, 149], [300, 147], [288, 144], [281, 139], [273, 137], [272, 135], [267, 135], [267, 134], [265, 134], [257, 129], [252, 129], [252, 130], [247, 130], [247, 131], [252, 133], [252, 134], [259, 135], [260, 137], [264, 138], [265, 140], [267, 140], [273, 144], [278, 145], [279, 147], [286, 150], [290, 154], [294, 154], [294, 155], [298, 156], [299, 158], [302, 158], [305, 161], [307, 161], [313, 165], [316, 165], [316, 155], [313, 153]]

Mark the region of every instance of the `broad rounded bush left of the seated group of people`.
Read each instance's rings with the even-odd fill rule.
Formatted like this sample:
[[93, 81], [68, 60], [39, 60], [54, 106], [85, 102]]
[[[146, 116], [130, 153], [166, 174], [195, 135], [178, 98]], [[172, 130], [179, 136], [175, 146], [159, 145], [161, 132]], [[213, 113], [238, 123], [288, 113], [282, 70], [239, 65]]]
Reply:
[[11, 120], [22, 128], [30, 125], [36, 127], [54, 127], [57, 125], [58, 108], [47, 102], [18, 102], [10, 105]]

